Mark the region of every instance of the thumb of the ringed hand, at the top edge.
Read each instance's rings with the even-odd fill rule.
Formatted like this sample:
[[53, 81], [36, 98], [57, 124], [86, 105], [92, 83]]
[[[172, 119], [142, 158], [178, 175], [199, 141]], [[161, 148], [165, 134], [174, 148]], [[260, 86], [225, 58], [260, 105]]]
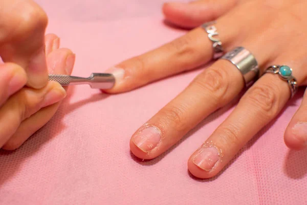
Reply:
[[163, 5], [166, 20], [183, 28], [195, 28], [231, 10], [238, 0], [199, 0], [189, 3], [171, 2]]

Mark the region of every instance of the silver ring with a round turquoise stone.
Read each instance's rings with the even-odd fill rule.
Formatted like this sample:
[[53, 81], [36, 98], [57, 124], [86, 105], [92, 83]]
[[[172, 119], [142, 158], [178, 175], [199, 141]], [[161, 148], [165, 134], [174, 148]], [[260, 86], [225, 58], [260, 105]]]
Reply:
[[292, 75], [292, 69], [289, 66], [270, 66], [266, 73], [279, 74], [279, 77], [288, 82], [291, 98], [295, 95], [298, 85], [296, 78]]

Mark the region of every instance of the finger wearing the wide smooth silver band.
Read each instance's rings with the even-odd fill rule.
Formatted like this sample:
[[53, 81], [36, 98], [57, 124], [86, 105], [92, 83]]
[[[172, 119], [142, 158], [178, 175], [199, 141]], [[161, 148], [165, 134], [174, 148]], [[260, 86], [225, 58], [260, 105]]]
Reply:
[[[245, 47], [255, 50], [261, 65], [269, 55], [259, 54], [257, 46]], [[143, 159], [159, 156], [209, 114], [230, 103], [243, 88], [239, 70], [229, 61], [217, 60], [131, 137], [131, 152]]]

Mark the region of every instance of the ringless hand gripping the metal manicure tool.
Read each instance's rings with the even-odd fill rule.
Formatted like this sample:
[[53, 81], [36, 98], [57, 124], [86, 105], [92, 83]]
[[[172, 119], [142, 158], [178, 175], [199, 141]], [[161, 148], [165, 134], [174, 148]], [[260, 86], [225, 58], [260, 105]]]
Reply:
[[71, 74], [75, 55], [45, 36], [47, 16], [33, 1], [0, 2], [0, 148], [17, 149], [56, 112], [66, 91], [48, 73]]

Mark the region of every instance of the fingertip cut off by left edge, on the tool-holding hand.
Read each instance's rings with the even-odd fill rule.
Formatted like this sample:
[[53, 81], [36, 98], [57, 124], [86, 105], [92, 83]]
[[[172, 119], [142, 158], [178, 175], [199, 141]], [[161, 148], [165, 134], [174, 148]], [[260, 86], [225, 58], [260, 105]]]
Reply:
[[27, 75], [23, 68], [16, 64], [0, 64], [0, 107], [15, 92], [27, 83]]

